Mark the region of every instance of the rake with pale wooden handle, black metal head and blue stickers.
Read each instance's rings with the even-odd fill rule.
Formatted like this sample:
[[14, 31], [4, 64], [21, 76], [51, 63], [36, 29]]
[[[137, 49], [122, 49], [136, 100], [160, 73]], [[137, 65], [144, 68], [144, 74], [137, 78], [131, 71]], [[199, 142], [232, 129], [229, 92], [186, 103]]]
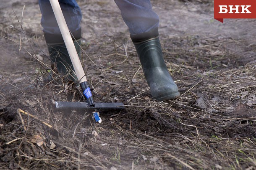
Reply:
[[67, 101], [56, 101], [55, 105], [57, 109], [84, 109], [91, 110], [93, 109], [93, 117], [96, 122], [100, 123], [102, 120], [99, 117], [99, 110], [121, 110], [124, 109], [123, 103], [94, 103], [93, 96], [91, 93], [91, 89], [87, 82], [84, 69], [79, 60], [78, 54], [76, 52], [75, 45], [71, 38], [71, 34], [68, 30], [68, 25], [63, 16], [62, 10], [60, 8], [60, 4], [58, 0], [50, 0], [53, 13], [57, 20], [57, 24], [60, 28], [61, 35], [63, 37], [65, 46], [68, 50], [68, 54], [71, 58], [77, 79], [79, 80], [80, 87], [83, 91], [84, 96], [86, 97], [86, 102], [67, 102]]

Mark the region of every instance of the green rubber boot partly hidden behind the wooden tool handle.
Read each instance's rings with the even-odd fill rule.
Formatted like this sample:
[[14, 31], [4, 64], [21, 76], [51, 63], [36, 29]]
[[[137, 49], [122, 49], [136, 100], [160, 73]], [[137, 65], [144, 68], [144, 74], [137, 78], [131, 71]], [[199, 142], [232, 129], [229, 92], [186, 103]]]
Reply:
[[[81, 58], [80, 44], [81, 39], [74, 41], [74, 45], [76, 47], [79, 58]], [[50, 54], [50, 60], [52, 63], [55, 63], [55, 67], [57, 68], [58, 73], [62, 74], [63, 76], [68, 75], [68, 79], [77, 81], [75, 70], [68, 55], [68, 50], [65, 46], [65, 43], [47, 43], [47, 47]]]

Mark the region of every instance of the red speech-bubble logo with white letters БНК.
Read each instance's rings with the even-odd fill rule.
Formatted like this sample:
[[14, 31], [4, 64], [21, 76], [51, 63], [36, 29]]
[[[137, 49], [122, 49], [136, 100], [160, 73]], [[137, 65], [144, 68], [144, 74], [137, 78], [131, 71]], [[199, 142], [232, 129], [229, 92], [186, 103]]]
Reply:
[[214, 0], [214, 19], [256, 18], [256, 0]]

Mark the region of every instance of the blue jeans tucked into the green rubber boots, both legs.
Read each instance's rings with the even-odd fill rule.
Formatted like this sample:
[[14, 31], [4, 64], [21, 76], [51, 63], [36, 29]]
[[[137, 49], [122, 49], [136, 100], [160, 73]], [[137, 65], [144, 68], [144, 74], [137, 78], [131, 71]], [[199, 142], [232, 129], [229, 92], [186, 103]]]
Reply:
[[[81, 30], [81, 9], [76, 0], [59, 0], [68, 28], [73, 32]], [[130, 33], [145, 33], [159, 26], [159, 17], [152, 10], [150, 0], [115, 0]], [[57, 21], [49, 0], [39, 0], [42, 13], [41, 25], [44, 33], [60, 35]]]

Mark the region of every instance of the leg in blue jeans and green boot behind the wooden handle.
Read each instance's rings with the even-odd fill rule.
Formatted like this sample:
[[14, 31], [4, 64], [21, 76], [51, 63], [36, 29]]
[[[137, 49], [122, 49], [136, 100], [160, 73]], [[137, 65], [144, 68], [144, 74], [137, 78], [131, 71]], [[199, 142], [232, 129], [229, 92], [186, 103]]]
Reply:
[[[59, 0], [65, 21], [71, 31], [78, 56], [80, 56], [80, 38], [82, 18], [81, 10], [76, 0]], [[55, 63], [61, 74], [72, 73], [74, 71], [67, 48], [57, 25], [49, 0], [39, 0], [39, 7], [42, 13], [41, 25], [43, 27], [44, 38], [47, 43], [50, 59]]]

